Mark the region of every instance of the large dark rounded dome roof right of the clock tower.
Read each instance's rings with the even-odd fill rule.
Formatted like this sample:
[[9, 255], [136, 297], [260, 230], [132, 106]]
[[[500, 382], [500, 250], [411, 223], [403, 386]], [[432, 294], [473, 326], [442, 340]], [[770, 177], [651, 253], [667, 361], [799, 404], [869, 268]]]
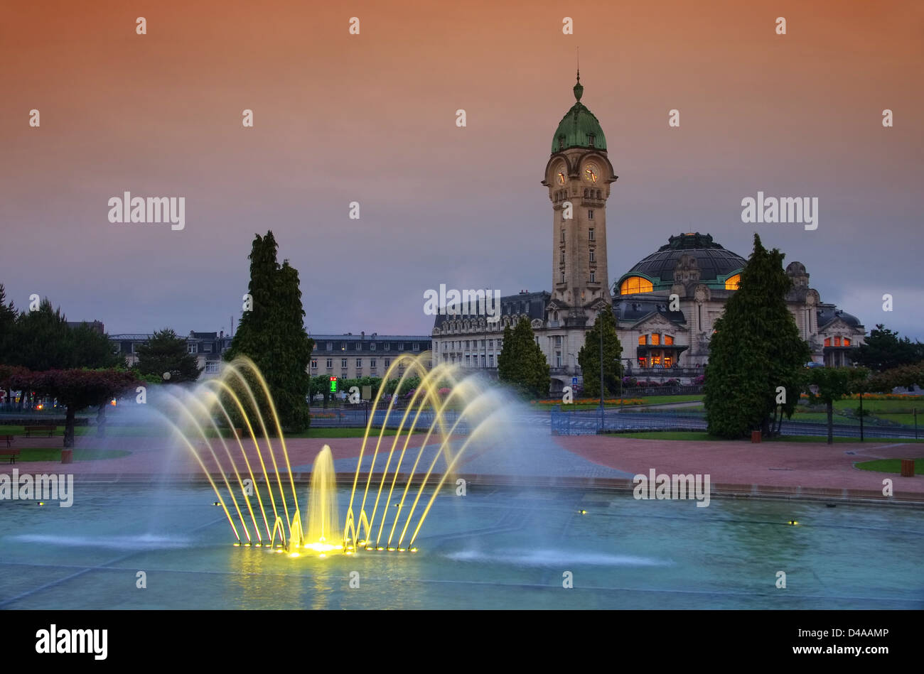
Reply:
[[724, 281], [733, 271], [741, 270], [748, 260], [742, 258], [731, 250], [726, 250], [721, 244], [712, 240], [711, 235], [701, 235], [699, 232], [671, 236], [667, 244], [658, 248], [648, 257], [638, 263], [621, 277], [641, 274], [650, 281], [664, 285], [674, 282], [674, 270], [677, 262], [684, 255], [696, 258], [699, 268], [699, 280], [703, 283]]

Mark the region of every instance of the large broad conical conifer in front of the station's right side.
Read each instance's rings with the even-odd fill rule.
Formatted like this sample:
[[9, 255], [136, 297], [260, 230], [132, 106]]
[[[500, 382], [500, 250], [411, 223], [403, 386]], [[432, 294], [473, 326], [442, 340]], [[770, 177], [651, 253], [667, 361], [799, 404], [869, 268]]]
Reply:
[[755, 429], [769, 435], [777, 413], [782, 423], [796, 410], [811, 352], [786, 307], [792, 282], [783, 259], [754, 235], [738, 290], [713, 326], [703, 402], [714, 435], [740, 438]]

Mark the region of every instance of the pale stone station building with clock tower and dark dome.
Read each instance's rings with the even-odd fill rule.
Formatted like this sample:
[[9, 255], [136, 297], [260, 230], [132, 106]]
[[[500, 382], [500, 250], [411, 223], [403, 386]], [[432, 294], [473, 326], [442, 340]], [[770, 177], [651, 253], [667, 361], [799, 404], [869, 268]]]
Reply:
[[[606, 205], [617, 176], [600, 122], [581, 102], [559, 123], [541, 184], [552, 203], [552, 292], [501, 297], [501, 315], [437, 315], [431, 333], [436, 362], [478, 367], [496, 376], [504, 328], [526, 318], [549, 363], [552, 390], [579, 382], [577, 354], [602, 311], [613, 311], [626, 374], [690, 381], [709, 362], [714, 323], [734, 294], [747, 260], [699, 232], [671, 236], [611, 286]], [[547, 230], [548, 231], [548, 230]], [[622, 251], [625, 254], [625, 250]], [[793, 287], [786, 305], [814, 362], [851, 364], [865, 330], [860, 321], [821, 302], [801, 262], [785, 269]], [[671, 302], [671, 295], [676, 302]], [[673, 304], [673, 307], [672, 307]]]

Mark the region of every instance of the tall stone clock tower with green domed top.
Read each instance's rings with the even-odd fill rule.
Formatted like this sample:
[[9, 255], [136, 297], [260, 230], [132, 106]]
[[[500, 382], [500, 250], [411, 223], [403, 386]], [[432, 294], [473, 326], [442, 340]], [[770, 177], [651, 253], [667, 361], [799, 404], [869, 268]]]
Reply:
[[600, 122], [582, 102], [577, 73], [575, 104], [552, 138], [542, 185], [552, 200], [552, 297], [547, 307], [565, 327], [590, 327], [612, 305], [606, 267], [606, 200], [615, 182]]

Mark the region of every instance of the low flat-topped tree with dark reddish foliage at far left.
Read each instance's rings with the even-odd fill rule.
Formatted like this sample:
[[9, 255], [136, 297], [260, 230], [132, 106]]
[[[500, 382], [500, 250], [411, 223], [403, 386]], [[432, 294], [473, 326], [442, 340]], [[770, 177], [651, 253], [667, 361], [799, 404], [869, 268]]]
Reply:
[[104, 404], [138, 384], [130, 372], [117, 369], [19, 370], [8, 376], [8, 382], [14, 389], [29, 389], [50, 395], [66, 406], [65, 447], [74, 446], [74, 420], [80, 410]]

